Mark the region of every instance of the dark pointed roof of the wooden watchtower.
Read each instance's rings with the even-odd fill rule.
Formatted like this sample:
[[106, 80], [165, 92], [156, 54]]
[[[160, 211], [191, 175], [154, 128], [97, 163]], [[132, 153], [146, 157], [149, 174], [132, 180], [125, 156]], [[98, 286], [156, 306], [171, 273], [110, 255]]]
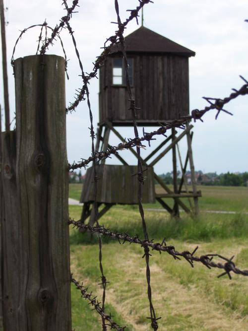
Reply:
[[[124, 38], [126, 52], [167, 53], [181, 56], [195, 56], [195, 52], [181, 46], [160, 34], [141, 26]], [[113, 51], [119, 49], [114, 46]]]

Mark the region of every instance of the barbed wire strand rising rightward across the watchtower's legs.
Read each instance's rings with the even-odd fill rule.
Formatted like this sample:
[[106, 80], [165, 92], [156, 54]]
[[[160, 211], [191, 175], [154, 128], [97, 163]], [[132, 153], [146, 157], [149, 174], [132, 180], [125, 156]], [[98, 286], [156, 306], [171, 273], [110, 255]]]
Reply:
[[130, 138], [130, 139], [128, 139], [128, 141], [119, 143], [118, 146], [111, 146], [111, 148], [107, 148], [106, 151], [100, 151], [100, 152], [96, 151], [95, 154], [91, 155], [88, 159], [81, 159], [80, 162], [77, 162], [77, 163], [74, 162], [73, 164], [69, 164], [68, 169], [75, 170], [75, 169], [79, 169], [79, 168], [85, 168], [93, 160], [105, 159], [112, 154], [117, 154], [118, 151], [120, 151], [122, 149], [129, 149], [129, 148], [132, 148], [135, 146], [144, 146], [144, 145], [142, 145], [143, 141], [147, 141], [149, 143], [151, 140], [154, 140], [154, 137], [156, 135], [162, 134], [162, 135], [166, 136], [165, 134], [166, 134], [167, 130], [169, 130], [169, 129], [172, 129], [172, 128], [184, 129], [184, 125], [186, 124], [187, 121], [190, 121], [190, 120], [194, 120], [194, 122], [196, 120], [202, 121], [202, 117], [205, 115], [205, 113], [207, 113], [210, 110], [216, 109], [217, 112], [219, 112], [220, 107], [221, 106], [223, 107], [225, 104], [227, 104], [231, 100], [237, 98], [240, 95], [248, 95], [248, 82], [243, 76], [240, 76], [240, 77], [246, 82], [246, 84], [244, 84], [239, 90], [233, 89], [234, 92], [231, 93], [229, 95], [229, 97], [226, 97], [224, 99], [216, 98], [215, 102], [212, 103], [210, 106], [206, 106], [202, 110], [194, 109], [191, 111], [191, 115], [182, 117], [180, 120], [172, 121], [171, 123], [164, 123], [156, 131], [143, 132], [143, 136], [141, 136], [139, 138], [138, 137]]

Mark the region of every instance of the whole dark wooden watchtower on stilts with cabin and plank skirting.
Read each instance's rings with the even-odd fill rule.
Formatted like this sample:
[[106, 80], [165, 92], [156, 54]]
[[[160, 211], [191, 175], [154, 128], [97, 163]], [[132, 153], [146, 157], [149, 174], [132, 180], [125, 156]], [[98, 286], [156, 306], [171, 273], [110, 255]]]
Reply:
[[[171, 122], [189, 112], [189, 82], [188, 82], [188, 58], [195, 53], [189, 49], [165, 38], [144, 26], [132, 32], [124, 39], [128, 60], [128, 73], [131, 83], [132, 95], [135, 97], [136, 106], [141, 108], [137, 113], [139, 126], [159, 126], [160, 123]], [[128, 110], [128, 93], [124, 60], [117, 46], [113, 47], [112, 53], [100, 69], [99, 91], [99, 127], [97, 133], [96, 150], [106, 150], [109, 145], [110, 132], [123, 142], [124, 138], [118, 131], [120, 126], [133, 126], [131, 112]], [[172, 129], [171, 134], [157, 148], [155, 148], [142, 163], [147, 168], [146, 181], [144, 184], [143, 202], [159, 201], [161, 205], [172, 215], [179, 215], [179, 206], [187, 213], [198, 212], [198, 197], [194, 165], [192, 158], [190, 133], [192, 125], [187, 125], [185, 131], [176, 132]], [[177, 133], [179, 133], [177, 135]], [[182, 163], [178, 142], [183, 137], [187, 138], [188, 151], [186, 160]], [[166, 146], [167, 145], [167, 146]], [[162, 152], [155, 157], [163, 147]], [[173, 159], [173, 182], [171, 190], [153, 171], [153, 166], [172, 150]], [[137, 157], [136, 151], [131, 152]], [[177, 179], [177, 152], [182, 172], [182, 179], [178, 184]], [[120, 154], [115, 155], [123, 164], [105, 165], [105, 161], [97, 166], [100, 180], [98, 182], [97, 203], [105, 204], [100, 211], [102, 216], [113, 204], [137, 203], [137, 179], [131, 176], [135, 173], [135, 166], [130, 166]], [[155, 158], [154, 158], [155, 157]], [[149, 160], [153, 158], [153, 161]], [[186, 166], [189, 160], [191, 171], [192, 188], [187, 188], [185, 179]], [[90, 206], [94, 200], [93, 194], [93, 171], [87, 170], [86, 180], [83, 186], [80, 202], [84, 203], [82, 221], [90, 215]], [[155, 180], [164, 189], [164, 193], [155, 193]], [[174, 206], [167, 204], [164, 198], [174, 200]], [[188, 206], [181, 198], [193, 198], [193, 203]], [[93, 211], [92, 211], [93, 213]], [[91, 213], [91, 214], [92, 214]], [[91, 217], [93, 220], [93, 217]], [[92, 222], [92, 220], [90, 222]]]

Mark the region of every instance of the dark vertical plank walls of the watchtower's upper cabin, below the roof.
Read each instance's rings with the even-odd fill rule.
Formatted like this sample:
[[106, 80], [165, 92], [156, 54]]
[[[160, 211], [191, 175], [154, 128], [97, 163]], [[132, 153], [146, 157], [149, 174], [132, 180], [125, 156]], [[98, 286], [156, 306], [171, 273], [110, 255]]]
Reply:
[[[120, 55], [119, 55], [120, 56]], [[188, 115], [188, 58], [169, 54], [128, 54], [133, 59], [132, 93], [137, 122], [157, 125]], [[132, 125], [126, 86], [113, 85], [113, 56], [100, 69], [100, 124]]]

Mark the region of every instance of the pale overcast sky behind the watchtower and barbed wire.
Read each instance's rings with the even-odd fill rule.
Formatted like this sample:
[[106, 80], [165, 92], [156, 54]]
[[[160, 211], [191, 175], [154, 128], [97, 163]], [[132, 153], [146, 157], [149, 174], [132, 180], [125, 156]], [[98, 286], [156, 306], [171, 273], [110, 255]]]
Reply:
[[[72, 1], [68, 1], [68, 5]], [[33, 24], [43, 23], [46, 19], [51, 27], [59, 23], [65, 14], [61, 0], [5, 0], [8, 7], [5, 19], [7, 59], [10, 63], [12, 49], [19, 30]], [[92, 71], [92, 62], [101, 53], [107, 37], [114, 34], [116, 21], [114, 0], [79, 0], [79, 12], [73, 14], [70, 21], [75, 31], [78, 50], [86, 72]], [[121, 18], [128, 15], [126, 9], [133, 9], [137, 0], [119, 0]], [[231, 88], [240, 88], [243, 81], [239, 75], [248, 78], [248, 18], [247, 0], [154, 0], [145, 5], [144, 25], [195, 51], [196, 56], [189, 59], [190, 110], [202, 109], [206, 102], [202, 96], [224, 98]], [[135, 21], [127, 25], [125, 35], [137, 28]], [[26, 32], [17, 46], [15, 59], [36, 53], [40, 30]], [[68, 62], [69, 80], [66, 81], [66, 103], [73, 101], [75, 88], [82, 85], [78, 62], [70, 36], [64, 30], [61, 33]], [[62, 55], [59, 44], [50, 47], [48, 54]], [[8, 66], [9, 98], [11, 117], [14, 113], [14, 79], [11, 66]], [[94, 127], [98, 122], [98, 80], [90, 83]], [[0, 103], [3, 107], [1, 84]], [[215, 113], [204, 117], [204, 123], [194, 126], [193, 157], [195, 169], [204, 172], [244, 172], [248, 171], [248, 96], [241, 96], [226, 106], [234, 116]], [[4, 121], [2, 122], [4, 125]], [[88, 158], [91, 154], [89, 138], [89, 116], [86, 102], [82, 102], [77, 111], [67, 115], [67, 153], [68, 161]], [[133, 136], [133, 129], [120, 129], [124, 136]], [[119, 143], [111, 135], [111, 144]], [[161, 141], [161, 138], [159, 139]], [[156, 143], [153, 143], [156, 146]], [[186, 143], [181, 142], [182, 154], [186, 153]], [[149, 153], [142, 150], [142, 155]], [[130, 152], [122, 152], [130, 164], [136, 164]], [[118, 162], [113, 158], [108, 163]], [[180, 168], [179, 168], [180, 169]], [[159, 174], [172, 170], [171, 154], [162, 159], [155, 167]]]

